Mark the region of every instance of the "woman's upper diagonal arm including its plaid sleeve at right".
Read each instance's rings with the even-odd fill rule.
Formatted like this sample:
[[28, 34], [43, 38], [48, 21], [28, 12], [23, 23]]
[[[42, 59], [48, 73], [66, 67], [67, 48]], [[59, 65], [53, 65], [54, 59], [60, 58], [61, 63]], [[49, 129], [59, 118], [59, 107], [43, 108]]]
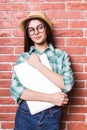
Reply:
[[38, 69], [43, 75], [45, 75], [51, 82], [53, 82], [56, 86], [60, 87], [64, 91], [68, 92], [71, 90], [74, 79], [73, 73], [71, 70], [71, 63], [69, 61], [69, 56], [67, 53], [62, 54], [62, 72], [61, 74], [55, 73], [45, 65], [43, 65], [36, 54], [32, 54], [31, 57], [27, 60], [27, 62]]

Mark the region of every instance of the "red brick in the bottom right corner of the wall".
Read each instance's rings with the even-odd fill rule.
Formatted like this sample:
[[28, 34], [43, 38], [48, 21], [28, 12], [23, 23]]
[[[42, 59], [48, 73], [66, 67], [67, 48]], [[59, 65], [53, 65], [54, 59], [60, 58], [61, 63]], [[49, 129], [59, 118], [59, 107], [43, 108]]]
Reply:
[[68, 130], [86, 130], [87, 129], [87, 123], [69, 123], [68, 124]]

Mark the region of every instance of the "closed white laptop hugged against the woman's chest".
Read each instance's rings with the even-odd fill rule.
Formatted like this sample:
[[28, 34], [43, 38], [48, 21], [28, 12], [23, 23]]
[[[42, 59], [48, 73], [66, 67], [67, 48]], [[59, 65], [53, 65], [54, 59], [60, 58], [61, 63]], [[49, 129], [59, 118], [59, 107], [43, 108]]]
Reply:
[[[41, 62], [52, 70], [49, 60], [45, 54], [40, 56]], [[42, 92], [42, 93], [55, 93], [61, 92], [61, 89], [45, 77], [40, 71], [29, 65], [26, 61], [14, 66], [14, 71], [19, 78], [20, 82], [26, 88]], [[54, 104], [42, 101], [26, 101], [31, 114], [37, 114], [43, 110], [49, 109]]]

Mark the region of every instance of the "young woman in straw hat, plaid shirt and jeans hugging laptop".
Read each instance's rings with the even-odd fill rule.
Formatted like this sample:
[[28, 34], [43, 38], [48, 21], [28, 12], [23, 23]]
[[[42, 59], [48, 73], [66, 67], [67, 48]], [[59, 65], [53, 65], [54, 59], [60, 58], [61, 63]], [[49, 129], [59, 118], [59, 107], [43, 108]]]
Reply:
[[[59, 130], [61, 106], [68, 103], [66, 92], [74, 83], [69, 56], [54, 47], [52, 23], [43, 13], [31, 12], [20, 28], [24, 31], [24, 53], [19, 56], [17, 64], [26, 60], [62, 91], [47, 94], [27, 89], [13, 71], [10, 92], [19, 103], [14, 130]], [[52, 70], [41, 63], [39, 55], [42, 54], [47, 55]], [[26, 101], [50, 102], [55, 106], [32, 115]]]

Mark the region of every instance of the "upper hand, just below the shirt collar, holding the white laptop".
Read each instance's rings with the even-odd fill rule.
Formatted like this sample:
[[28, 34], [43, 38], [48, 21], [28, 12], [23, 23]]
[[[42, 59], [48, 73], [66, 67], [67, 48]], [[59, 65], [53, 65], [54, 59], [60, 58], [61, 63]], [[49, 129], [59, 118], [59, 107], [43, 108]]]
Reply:
[[34, 68], [38, 68], [41, 61], [38, 55], [36, 55], [35, 53], [32, 53], [30, 58], [27, 60], [28, 64], [30, 64], [32, 67]]

